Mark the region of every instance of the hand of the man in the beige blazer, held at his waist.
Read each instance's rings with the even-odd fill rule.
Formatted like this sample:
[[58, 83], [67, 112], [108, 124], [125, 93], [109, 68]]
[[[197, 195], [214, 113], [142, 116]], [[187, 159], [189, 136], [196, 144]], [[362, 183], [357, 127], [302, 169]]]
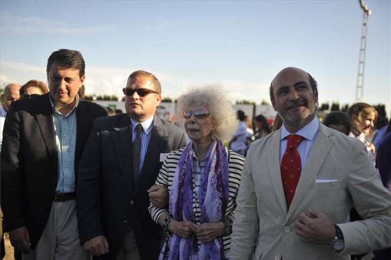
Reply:
[[295, 233], [310, 243], [328, 244], [335, 236], [334, 224], [318, 210], [309, 210], [309, 216], [300, 214], [295, 227]]

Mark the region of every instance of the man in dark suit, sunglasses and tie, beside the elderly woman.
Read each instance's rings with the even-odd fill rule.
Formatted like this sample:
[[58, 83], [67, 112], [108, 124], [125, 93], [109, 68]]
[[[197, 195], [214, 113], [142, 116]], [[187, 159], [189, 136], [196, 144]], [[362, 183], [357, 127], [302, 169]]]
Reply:
[[185, 134], [154, 115], [161, 88], [152, 73], [133, 72], [123, 91], [127, 114], [95, 120], [82, 155], [80, 238], [101, 259], [153, 260], [161, 249], [162, 228], [149, 216], [147, 190], [164, 153], [184, 146]]

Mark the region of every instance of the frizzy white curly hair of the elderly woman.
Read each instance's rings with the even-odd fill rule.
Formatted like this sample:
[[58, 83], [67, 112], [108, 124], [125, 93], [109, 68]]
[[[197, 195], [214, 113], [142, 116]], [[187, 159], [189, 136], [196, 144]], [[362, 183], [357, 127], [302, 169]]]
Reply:
[[183, 120], [185, 109], [192, 105], [202, 105], [211, 112], [215, 135], [219, 140], [228, 141], [236, 131], [238, 118], [235, 109], [227, 98], [228, 94], [214, 85], [189, 88], [177, 101], [176, 117]]

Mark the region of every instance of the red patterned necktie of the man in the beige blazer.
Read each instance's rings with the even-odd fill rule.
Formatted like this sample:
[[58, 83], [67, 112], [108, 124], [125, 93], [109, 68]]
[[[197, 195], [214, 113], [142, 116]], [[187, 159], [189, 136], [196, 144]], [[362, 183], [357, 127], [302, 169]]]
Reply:
[[286, 136], [288, 143], [281, 161], [281, 178], [284, 188], [286, 206], [289, 209], [295, 195], [300, 173], [302, 172], [302, 162], [296, 147], [303, 140], [303, 136], [291, 134]]

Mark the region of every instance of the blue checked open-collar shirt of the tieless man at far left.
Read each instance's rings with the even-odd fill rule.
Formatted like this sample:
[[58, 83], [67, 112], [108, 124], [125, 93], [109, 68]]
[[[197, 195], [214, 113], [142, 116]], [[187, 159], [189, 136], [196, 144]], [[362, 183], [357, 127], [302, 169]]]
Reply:
[[56, 135], [58, 180], [56, 193], [75, 191], [75, 150], [76, 150], [76, 108], [79, 96], [76, 95], [75, 107], [66, 115], [53, 106], [54, 131]]

